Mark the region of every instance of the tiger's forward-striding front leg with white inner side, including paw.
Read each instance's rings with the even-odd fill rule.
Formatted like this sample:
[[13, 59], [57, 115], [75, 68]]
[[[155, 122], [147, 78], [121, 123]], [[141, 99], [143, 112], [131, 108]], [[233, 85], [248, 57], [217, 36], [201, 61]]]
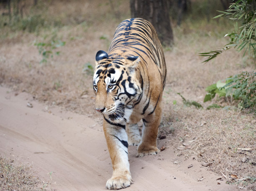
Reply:
[[103, 130], [113, 167], [113, 175], [107, 181], [106, 188], [110, 190], [126, 188], [133, 181], [128, 161], [128, 137], [125, 128], [111, 125], [104, 120]]

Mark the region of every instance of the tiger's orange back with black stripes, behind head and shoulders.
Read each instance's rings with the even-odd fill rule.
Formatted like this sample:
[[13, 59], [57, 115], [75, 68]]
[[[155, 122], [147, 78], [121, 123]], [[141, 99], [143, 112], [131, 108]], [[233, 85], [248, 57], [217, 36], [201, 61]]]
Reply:
[[154, 26], [147, 20], [132, 18], [118, 25], [109, 48], [109, 57], [115, 58], [117, 55], [120, 58], [139, 56], [142, 58], [141, 64], [147, 69], [156, 69], [155, 65], [157, 65], [164, 88], [166, 79], [164, 53]]

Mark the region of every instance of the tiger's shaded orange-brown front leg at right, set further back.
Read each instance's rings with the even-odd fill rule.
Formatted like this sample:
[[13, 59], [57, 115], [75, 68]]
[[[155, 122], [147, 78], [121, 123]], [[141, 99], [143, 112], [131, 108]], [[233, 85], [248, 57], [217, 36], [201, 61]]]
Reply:
[[[160, 105], [160, 104], [159, 104]], [[160, 150], [156, 146], [158, 128], [161, 122], [161, 107], [157, 106], [154, 113], [143, 118], [141, 142], [137, 148], [137, 157], [155, 155]]]

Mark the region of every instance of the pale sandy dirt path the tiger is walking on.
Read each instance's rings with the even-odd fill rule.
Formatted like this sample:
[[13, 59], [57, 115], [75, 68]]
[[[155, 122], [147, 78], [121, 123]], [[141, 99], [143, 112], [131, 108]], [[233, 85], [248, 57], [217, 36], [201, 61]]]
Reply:
[[[33, 108], [29, 108], [30, 102]], [[161, 147], [161, 142], [159, 143]], [[49, 180], [52, 190], [104, 190], [112, 174], [111, 161], [102, 127], [86, 116], [51, 111], [33, 101], [31, 95], [15, 96], [0, 87], [0, 153], [33, 163], [33, 170]], [[150, 190], [234, 190], [219, 176], [189, 158], [174, 164], [170, 147], [156, 156], [136, 158], [136, 147], [129, 147], [134, 184], [126, 191]], [[187, 168], [193, 164], [192, 168]], [[204, 177], [203, 181], [197, 179]], [[219, 182], [220, 184], [218, 185]]]

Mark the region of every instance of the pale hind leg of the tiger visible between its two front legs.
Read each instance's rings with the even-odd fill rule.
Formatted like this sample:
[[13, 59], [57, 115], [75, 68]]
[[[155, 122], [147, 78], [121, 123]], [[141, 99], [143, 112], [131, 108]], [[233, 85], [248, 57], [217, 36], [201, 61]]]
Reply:
[[141, 142], [141, 135], [138, 130], [138, 124], [127, 124], [126, 126], [126, 132], [128, 135], [128, 145], [129, 146], [138, 146], [138, 144]]

